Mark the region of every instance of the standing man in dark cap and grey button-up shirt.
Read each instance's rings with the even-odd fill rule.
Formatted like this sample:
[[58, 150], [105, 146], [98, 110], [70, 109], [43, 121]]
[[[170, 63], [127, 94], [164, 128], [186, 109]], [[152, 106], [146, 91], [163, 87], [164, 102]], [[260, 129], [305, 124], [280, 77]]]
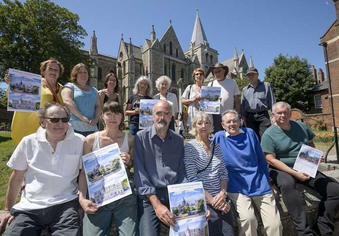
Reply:
[[272, 110], [275, 97], [270, 83], [258, 79], [258, 70], [250, 67], [246, 71], [250, 84], [242, 89], [241, 116], [246, 127], [255, 131], [259, 140], [267, 128], [271, 126], [268, 110]]

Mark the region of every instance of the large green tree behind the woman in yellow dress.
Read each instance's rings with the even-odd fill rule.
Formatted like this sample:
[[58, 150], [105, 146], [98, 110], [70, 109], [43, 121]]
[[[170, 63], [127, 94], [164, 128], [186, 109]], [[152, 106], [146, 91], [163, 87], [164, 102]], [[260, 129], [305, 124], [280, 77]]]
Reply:
[[59, 82], [69, 81], [75, 64], [90, 64], [79, 48], [87, 36], [79, 16], [49, 0], [0, 1], [0, 81], [8, 68], [40, 74], [51, 57], [64, 64]]

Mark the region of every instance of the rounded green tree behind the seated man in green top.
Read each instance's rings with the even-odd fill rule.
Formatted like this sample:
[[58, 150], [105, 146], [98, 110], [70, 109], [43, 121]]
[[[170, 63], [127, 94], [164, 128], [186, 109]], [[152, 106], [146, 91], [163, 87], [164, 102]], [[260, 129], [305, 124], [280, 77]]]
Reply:
[[292, 108], [307, 111], [307, 89], [314, 85], [306, 59], [279, 54], [265, 73], [265, 81], [271, 84], [276, 101], [284, 101]]

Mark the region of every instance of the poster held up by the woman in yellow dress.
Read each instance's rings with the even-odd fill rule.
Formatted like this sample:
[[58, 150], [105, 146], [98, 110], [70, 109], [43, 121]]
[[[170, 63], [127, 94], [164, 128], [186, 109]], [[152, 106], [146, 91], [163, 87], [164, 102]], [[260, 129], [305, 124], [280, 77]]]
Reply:
[[7, 110], [39, 112], [41, 96], [41, 75], [9, 69], [12, 78], [8, 85]]

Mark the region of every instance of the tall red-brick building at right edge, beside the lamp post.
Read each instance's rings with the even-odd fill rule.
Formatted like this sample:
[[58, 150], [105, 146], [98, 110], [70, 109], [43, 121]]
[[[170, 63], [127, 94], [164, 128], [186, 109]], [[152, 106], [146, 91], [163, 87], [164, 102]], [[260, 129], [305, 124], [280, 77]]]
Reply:
[[[336, 125], [339, 125], [339, 0], [333, 0], [336, 9], [337, 19], [320, 38], [321, 43], [327, 43], [328, 67], [330, 71], [327, 74], [331, 76], [332, 98]], [[325, 49], [324, 49], [325, 55]], [[326, 64], [325, 55], [325, 64]], [[327, 66], [326, 66], [327, 70]], [[325, 94], [323, 95], [325, 98]], [[328, 95], [329, 96], [329, 95]], [[330, 98], [330, 97], [329, 97]], [[329, 101], [329, 99], [328, 99]], [[329, 104], [330, 106], [330, 104]], [[331, 112], [331, 107], [328, 107]], [[323, 111], [325, 112], [325, 111]], [[332, 123], [332, 122], [331, 122]]]

